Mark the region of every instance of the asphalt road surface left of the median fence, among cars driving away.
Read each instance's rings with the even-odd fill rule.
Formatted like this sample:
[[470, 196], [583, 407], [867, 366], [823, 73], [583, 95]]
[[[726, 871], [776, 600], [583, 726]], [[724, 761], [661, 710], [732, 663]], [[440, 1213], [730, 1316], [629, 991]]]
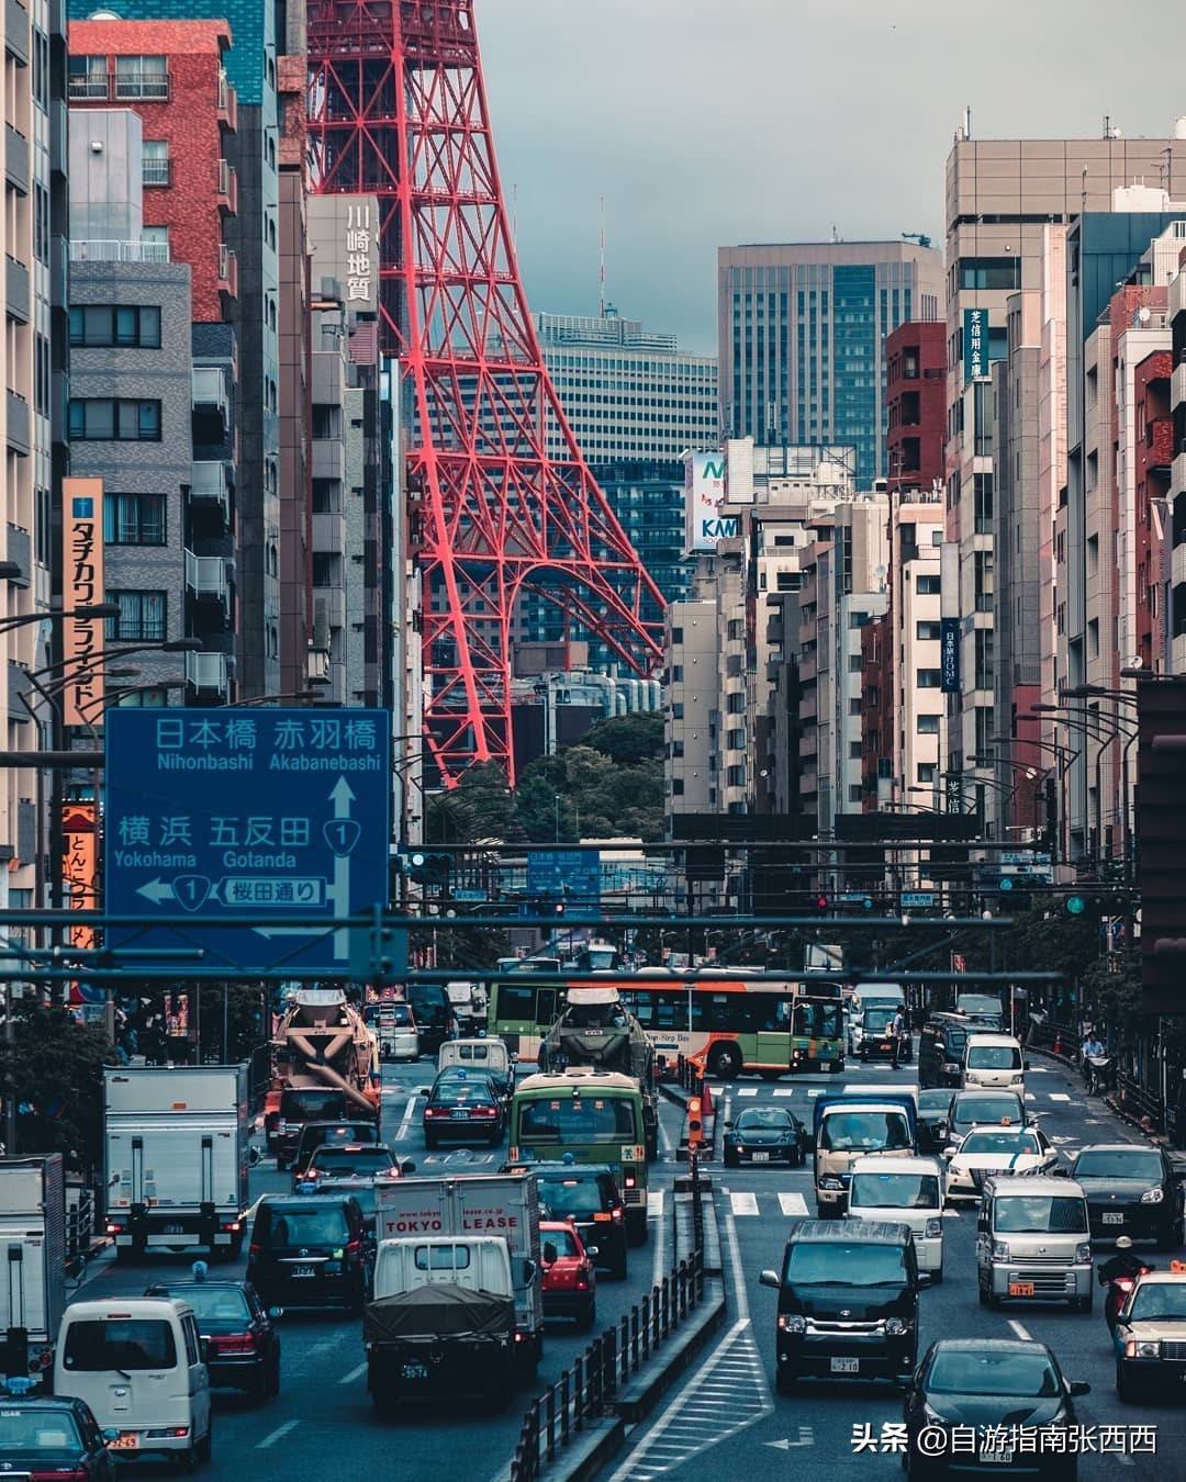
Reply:
[[[417, 1088], [433, 1079], [433, 1064], [385, 1067], [382, 1134], [402, 1156], [411, 1157], [418, 1174], [449, 1168], [473, 1172], [495, 1171], [506, 1159], [501, 1149], [468, 1153], [449, 1150], [428, 1153], [424, 1147], [420, 1113], [423, 1097], [412, 1100]], [[678, 1137], [679, 1112], [666, 1106], [664, 1141]], [[262, 1138], [259, 1140], [262, 1144]], [[651, 1199], [649, 1240], [630, 1251], [626, 1282], [597, 1279], [597, 1331], [617, 1322], [640, 1300], [657, 1273], [670, 1261], [669, 1221], [673, 1160], [652, 1169], [651, 1186], [661, 1199]], [[276, 1171], [274, 1159], [252, 1169], [252, 1196], [288, 1193], [289, 1174]], [[188, 1276], [200, 1257], [153, 1255], [136, 1264], [116, 1266], [110, 1255], [96, 1261], [79, 1295], [130, 1295], [160, 1279]], [[242, 1276], [246, 1257], [234, 1266], [219, 1266], [215, 1276]], [[282, 1341], [282, 1389], [276, 1399], [251, 1406], [245, 1396], [219, 1390], [215, 1395], [213, 1460], [202, 1469], [209, 1482], [325, 1482], [328, 1476], [399, 1476], [400, 1482], [434, 1482], [449, 1457], [467, 1478], [497, 1476], [508, 1463], [523, 1411], [534, 1393], [559, 1378], [560, 1372], [584, 1352], [589, 1334], [577, 1334], [572, 1323], [549, 1323], [538, 1381], [522, 1389], [501, 1415], [474, 1400], [455, 1400], [434, 1409], [405, 1409], [396, 1421], [378, 1421], [366, 1393], [362, 1326], [357, 1317], [339, 1313], [286, 1313], [279, 1319]], [[127, 1476], [165, 1476], [168, 1469], [151, 1461], [129, 1463]]]

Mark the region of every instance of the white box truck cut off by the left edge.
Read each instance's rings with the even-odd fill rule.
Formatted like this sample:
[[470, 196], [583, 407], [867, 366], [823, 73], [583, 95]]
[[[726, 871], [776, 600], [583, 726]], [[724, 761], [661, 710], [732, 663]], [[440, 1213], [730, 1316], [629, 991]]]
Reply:
[[0, 1338], [6, 1378], [46, 1392], [65, 1310], [62, 1154], [0, 1157]]

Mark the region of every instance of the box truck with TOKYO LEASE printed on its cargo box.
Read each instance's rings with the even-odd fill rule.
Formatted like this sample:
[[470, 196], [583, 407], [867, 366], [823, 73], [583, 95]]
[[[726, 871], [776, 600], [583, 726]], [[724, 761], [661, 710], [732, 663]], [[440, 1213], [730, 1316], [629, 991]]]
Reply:
[[531, 1372], [544, 1335], [540, 1266], [540, 1190], [535, 1175], [461, 1174], [457, 1178], [391, 1178], [377, 1186], [375, 1239], [498, 1236], [507, 1242], [514, 1279], [517, 1368]]

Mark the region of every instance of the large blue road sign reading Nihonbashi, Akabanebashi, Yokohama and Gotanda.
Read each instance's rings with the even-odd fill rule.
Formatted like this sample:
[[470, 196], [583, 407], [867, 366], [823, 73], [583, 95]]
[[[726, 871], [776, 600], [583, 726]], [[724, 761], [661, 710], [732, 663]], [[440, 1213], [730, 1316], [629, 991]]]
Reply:
[[[203, 968], [360, 969], [368, 934], [332, 926], [387, 903], [388, 711], [113, 707], [105, 725], [105, 908], [145, 926], [193, 916], [191, 931], [111, 946], [202, 947]], [[236, 914], [276, 925], [212, 929]]]

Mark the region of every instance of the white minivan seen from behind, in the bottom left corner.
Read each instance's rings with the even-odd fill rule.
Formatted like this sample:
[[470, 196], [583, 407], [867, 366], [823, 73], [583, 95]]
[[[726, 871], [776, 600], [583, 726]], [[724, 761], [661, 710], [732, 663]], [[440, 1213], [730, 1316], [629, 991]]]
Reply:
[[110, 1449], [160, 1452], [188, 1470], [211, 1455], [211, 1378], [193, 1309], [170, 1297], [110, 1297], [67, 1307], [53, 1393], [86, 1400]]

